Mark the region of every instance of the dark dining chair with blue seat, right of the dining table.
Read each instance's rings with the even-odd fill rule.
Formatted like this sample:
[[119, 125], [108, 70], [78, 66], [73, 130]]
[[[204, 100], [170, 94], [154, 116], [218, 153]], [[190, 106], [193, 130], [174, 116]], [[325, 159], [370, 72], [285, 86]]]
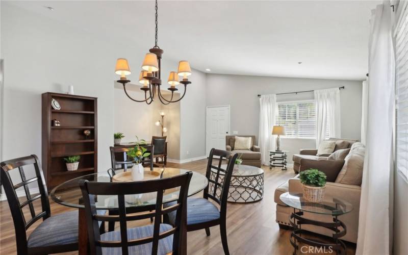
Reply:
[[[218, 159], [214, 156], [219, 157]], [[231, 152], [212, 148], [208, 158], [206, 177], [209, 185], [204, 189], [203, 198], [188, 198], [187, 199], [187, 232], [206, 230], [207, 236], [210, 236], [210, 227], [220, 225], [221, 243], [225, 254], [230, 254], [228, 250], [228, 242], [226, 237], [226, 205], [228, 197], [228, 189], [230, 189], [231, 176], [234, 170], [235, 160], [238, 154], [231, 157]], [[228, 160], [225, 169], [221, 168], [222, 161]], [[213, 161], [218, 165], [214, 166]], [[212, 172], [215, 169], [216, 172]], [[223, 178], [221, 181], [220, 172]], [[220, 209], [214, 205], [211, 198], [220, 206]], [[168, 203], [172, 205], [172, 203]], [[169, 213], [164, 217], [164, 222], [174, 224], [175, 214]]]

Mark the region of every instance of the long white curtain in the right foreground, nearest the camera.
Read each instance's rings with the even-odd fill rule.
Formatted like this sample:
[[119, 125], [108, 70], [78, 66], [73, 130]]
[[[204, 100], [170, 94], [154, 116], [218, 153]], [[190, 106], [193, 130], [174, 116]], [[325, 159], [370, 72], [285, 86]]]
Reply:
[[389, 1], [373, 10], [366, 155], [356, 254], [391, 254], [395, 58]]

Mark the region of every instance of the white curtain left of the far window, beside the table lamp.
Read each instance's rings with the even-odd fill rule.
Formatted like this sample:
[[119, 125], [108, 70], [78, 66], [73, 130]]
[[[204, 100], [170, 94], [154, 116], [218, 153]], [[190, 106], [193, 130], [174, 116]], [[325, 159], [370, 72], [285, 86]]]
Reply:
[[272, 128], [275, 123], [276, 94], [261, 95], [259, 98], [259, 147], [261, 149], [261, 161], [265, 165], [269, 163], [269, 150], [275, 149]]

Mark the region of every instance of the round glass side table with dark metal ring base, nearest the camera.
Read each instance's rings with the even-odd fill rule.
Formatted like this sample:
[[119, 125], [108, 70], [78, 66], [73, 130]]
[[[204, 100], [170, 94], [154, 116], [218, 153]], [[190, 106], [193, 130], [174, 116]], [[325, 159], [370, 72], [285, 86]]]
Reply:
[[[339, 198], [324, 196], [322, 202], [310, 202], [303, 198], [302, 193], [285, 192], [279, 196], [281, 201], [285, 205], [293, 208], [293, 213], [290, 216], [290, 223], [293, 227], [293, 232], [290, 236], [290, 243], [292, 244], [294, 251], [299, 249], [299, 243], [307, 244], [309, 246], [323, 248], [326, 251], [336, 251], [337, 254], [346, 254], [346, 245], [340, 237], [343, 237], [347, 233], [346, 225], [337, 217], [346, 214], [353, 210], [351, 203]], [[297, 210], [297, 211], [296, 211]], [[317, 220], [311, 220], [302, 217], [303, 212], [326, 214], [333, 216], [333, 222], [323, 222]], [[333, 235], [329, 237], [328, 241], [320, 241], [302, 236], [302, 234], [310, 234], [313, 232], [303, 230], [302, 225], [314, 225], [327, 228], [333, 231]], [[317, 233], [313, 233], [319, 235]]]

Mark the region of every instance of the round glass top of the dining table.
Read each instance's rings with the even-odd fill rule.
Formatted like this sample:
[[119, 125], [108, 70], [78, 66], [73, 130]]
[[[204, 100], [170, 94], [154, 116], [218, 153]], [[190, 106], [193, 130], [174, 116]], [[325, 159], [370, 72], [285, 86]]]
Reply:
[[[128, 170], [130, 171], [130, 170]], [[163, 168], [154, 168], [154, 171], [161, 172]], [[164, 168], [163, 178], [172, 177], [179, 174], [186, 173], [190, 170], [179, 168]], [[123, 172], [123, 170], [115, 170], [116, 174]], [[205, 175], [198, 172], [191, 171], [193, 173], [190, 181], [188, 195], [194, 195], [201, 190], [205, 189], [208, 185], [208, 180]], [[160, 176], [157, 177], [159, 179]], [[107, 171], [87, 174], [65, 183], [62, 183], [55, 187], [50, 192], [50, 197], [61, 205], [84, 208], [82, 202], [81, 188], [79, 187], [80, 180], [88, 180], [90, 182], [111, 182], [111, 176]], [[151, 180], [151, 179], [149, 179]], [[175, 201], [179, 198], [179, 189], [166, 190], [163, 194], [163, 202]], [[154, 205], [156, 203], [156, 192], [144, 193], [144, 194], [132, 194], [125, 195], [126, 207], [137, 207]], [[96, 201], [96, 209], [117, 209], [118, 199], [116, 195], [98, 195]]]

